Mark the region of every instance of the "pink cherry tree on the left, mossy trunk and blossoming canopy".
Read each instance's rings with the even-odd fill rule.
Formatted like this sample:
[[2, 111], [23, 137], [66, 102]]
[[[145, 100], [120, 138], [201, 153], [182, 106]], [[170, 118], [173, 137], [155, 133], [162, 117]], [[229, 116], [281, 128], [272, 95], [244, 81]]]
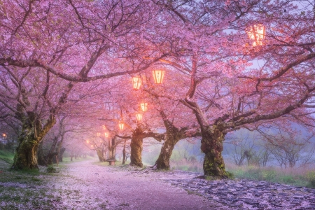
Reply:
[[22, 123], [14, 168], [37, 167], [38, 144], [55, 125], [73, 85], [137, 73], [154, 62], [142, 58], [152, 50], [139, 48], [139, 29], [155, 14], [148, 4], [1, 2], [1, 104]]

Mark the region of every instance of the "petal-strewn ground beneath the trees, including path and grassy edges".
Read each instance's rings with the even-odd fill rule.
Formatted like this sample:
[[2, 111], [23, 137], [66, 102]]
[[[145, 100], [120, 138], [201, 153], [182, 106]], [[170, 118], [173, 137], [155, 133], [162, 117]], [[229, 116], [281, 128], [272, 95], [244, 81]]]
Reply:
[[315, 209], [314, 189], [264, 181], [206, 181], [195, 179], [197, 173], [97, 160], [59, 170], [38, 176], [1, 171], [1, 209]]

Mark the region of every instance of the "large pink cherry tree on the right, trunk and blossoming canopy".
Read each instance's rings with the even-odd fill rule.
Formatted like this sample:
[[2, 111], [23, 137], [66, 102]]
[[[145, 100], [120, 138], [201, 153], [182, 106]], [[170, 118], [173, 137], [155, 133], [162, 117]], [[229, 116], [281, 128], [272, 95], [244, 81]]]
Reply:
[[[204, 174], [225, 177], [221, 153], [228, 132], [272, 123], [314, 126], [313, 6], [308, 3], [301, 13], [288, 1], [194, 3], [162, 3], [177, 27], [186, 26], [182, 53], [162, 62], [190, 75], [181, 102], [201, 128]], [[246, 29], [261, 23], [267, 35], [254, 45]]]

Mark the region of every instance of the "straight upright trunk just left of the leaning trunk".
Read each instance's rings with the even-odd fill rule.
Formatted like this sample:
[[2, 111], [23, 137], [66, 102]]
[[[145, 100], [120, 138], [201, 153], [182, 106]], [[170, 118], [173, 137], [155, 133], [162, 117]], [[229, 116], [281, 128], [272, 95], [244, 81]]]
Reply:
[[141, 134], [143, 134], [143, 130], [140, 126], [134, 130], [132, 134], [132, 141], [130, 144], [130, 165], [135, 165], [137, 167], [143, 167], [142, 164], [142, 148], [143, 148], [143, 141], [144, 138]]

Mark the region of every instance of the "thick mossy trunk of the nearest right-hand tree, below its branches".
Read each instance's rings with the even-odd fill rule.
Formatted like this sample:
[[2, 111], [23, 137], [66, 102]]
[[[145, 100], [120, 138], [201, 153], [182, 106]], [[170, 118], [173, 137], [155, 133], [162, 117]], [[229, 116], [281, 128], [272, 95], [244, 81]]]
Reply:
[[202, 132], [201, 150], [204, 153], [204, 176], [228, 178], [222, 157], [225, 133], [216, 129], [216, 125]]

